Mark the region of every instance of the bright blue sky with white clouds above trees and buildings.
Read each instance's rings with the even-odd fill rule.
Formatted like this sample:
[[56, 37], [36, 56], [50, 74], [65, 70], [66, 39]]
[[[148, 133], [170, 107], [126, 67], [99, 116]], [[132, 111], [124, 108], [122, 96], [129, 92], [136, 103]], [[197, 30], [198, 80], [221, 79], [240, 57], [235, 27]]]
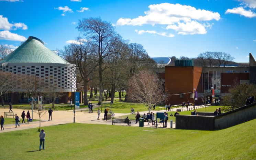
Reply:
[[0, 44], [15, 48], [35, 36], [62, 49], [79, 36], [78, 19], [98, 16], [151, 57], [205, 51], [230, 53], [235, 62], [256, 57], [256, 0], [0, 0]]

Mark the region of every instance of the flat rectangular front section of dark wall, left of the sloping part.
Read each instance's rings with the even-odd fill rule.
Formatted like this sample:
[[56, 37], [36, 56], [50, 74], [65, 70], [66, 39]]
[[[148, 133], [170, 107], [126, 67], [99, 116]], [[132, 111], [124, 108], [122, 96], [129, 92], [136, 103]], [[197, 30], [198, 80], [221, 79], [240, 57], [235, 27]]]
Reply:
[[201, 129], [213, 130], [214, 117], [212, 116], [190, 116], [176, 115], [176, 129]]

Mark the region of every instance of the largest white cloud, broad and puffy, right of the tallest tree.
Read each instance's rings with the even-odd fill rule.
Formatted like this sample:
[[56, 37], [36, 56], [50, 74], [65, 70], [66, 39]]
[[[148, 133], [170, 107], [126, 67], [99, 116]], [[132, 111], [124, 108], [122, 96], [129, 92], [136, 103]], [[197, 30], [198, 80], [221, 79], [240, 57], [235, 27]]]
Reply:
[[[218, 12], [196, 9], [189, 5], [181, 4], [152, 4], [148, 6], [149, 11], [144, 12], [145, 16], [137, 18], [119, 18], [116, 25], [142, 26], [145, 24], [168, 25], [166, 29], [174, 29], [178, 34], [206, 34], [205, 24], [198, 21], [219, 21]], [[189, 28], [192, 27], [192, 28]], [[210, 27], [209, 27], [210, 28]]]

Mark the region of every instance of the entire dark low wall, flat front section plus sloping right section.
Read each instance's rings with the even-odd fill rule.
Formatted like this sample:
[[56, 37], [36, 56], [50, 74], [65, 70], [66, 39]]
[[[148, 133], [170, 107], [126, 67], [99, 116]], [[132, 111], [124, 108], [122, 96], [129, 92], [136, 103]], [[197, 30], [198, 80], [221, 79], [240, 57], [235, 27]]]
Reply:
[[[198, 116], [176, 115], [176, 129], [224, 129], [256, 118], [256, 103], [247, 105], [218, 116], [207, 116], [211, 112], [197, 112]], [[205, 114], [205, 115], [199, 115]]]

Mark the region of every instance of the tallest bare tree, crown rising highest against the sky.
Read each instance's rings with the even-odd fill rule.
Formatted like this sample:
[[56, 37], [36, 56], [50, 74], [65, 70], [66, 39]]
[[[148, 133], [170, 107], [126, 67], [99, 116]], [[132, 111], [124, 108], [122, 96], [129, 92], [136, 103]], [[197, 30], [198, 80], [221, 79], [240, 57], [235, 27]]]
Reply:
[[79, 20], [77, 29], [97, 48], [100, 89], [98, 104], [101, 104], [103, 98], [103, 60], [111, 54], [109, 49], [115, 44], [119, 37], [117, 37], [114, 27], [109, 22], [102, 21], [100, 17], [83, 18]]

